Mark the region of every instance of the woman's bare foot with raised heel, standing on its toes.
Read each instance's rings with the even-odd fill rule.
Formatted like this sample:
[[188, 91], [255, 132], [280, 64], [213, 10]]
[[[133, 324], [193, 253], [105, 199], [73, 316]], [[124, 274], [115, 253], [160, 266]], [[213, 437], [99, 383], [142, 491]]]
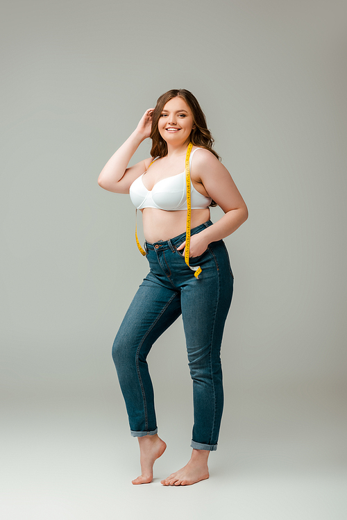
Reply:
[[167, 445], [155, 435], [146, 435], [145, 437], [137, 437], [139, 440], [139, 462], [141, 464], [141, 475], [133, 484], [149, 484], [153, 480], [153, 464], [166, 450]]

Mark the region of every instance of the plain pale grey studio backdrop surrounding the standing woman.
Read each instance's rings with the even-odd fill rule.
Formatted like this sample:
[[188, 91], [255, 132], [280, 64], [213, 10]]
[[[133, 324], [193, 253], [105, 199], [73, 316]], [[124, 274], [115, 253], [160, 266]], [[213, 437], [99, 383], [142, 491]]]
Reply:
[[[346, 3], [34, 0], [3, 11], [6, 518], [346, 518]], [[183, 327], [150, 355], [169, 448], [153, 484], [134, 487], [110, 347], [147, 265], [128, 196], [96, 183], [171, 88], [196, 95], [250, 214], [226, 239], [235, 294], [213, 478], [175, 490], [160, 479], [189, 457]]]

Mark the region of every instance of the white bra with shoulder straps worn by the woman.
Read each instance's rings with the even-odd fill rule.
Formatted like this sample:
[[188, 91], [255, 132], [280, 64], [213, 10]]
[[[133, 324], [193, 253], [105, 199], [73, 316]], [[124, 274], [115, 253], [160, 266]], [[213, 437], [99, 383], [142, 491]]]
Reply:
[[[201, 150], [201, 148], [194, 149], [190, 154], [189, 169], [192, 165], [192, 157], [196, 150]], [[156, 159], [158, 159], [158, 157], [154, 160]], [[144, 174], [145, 173], [146, 171]], [[152, 190], [147, 190], [144, 185], [142, 181], [144, 174], [135, 179], [129, 190], [130, 199], [137, 210], [143, 210], [144, 208], [156, 208], [158, 210], [167, 211], [187, 210], [185, 171], [178, 175], [163, 178], [161, 181], [158, 181], [158, 183], [155, 183]], [[192, 210], [202, 210], [210, 206], [212, 199], [199, 193], [194, 188], [193, 183], [191, 183], [190, 192]]]

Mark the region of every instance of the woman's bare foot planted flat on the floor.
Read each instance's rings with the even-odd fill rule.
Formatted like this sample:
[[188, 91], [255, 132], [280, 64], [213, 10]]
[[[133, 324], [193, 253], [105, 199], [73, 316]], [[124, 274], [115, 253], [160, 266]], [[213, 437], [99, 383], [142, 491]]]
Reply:
[[165, 480], [162, 480], [164, 486], [190, 486], [209, 478], [208, 473], [208, 455], [210, 451], [193, 450], [192, 458], [188, 464], [176, 471]]

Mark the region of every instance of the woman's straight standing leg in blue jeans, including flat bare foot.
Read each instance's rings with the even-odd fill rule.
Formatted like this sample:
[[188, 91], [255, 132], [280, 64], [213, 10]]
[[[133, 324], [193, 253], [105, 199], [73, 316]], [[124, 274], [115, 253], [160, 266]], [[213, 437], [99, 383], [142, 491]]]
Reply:
[[210, 244], [199, 263], [199, 280], [185, 283], [181, 307], [190, 374], [193, 380], [194, 427], [192, 458], [187, 466], [162, 481], [189, 485], [208, 478], [208, 455], [217, 449], [223, 412], [221, 340], [230, 308], [233, 277], [223, 242]]

